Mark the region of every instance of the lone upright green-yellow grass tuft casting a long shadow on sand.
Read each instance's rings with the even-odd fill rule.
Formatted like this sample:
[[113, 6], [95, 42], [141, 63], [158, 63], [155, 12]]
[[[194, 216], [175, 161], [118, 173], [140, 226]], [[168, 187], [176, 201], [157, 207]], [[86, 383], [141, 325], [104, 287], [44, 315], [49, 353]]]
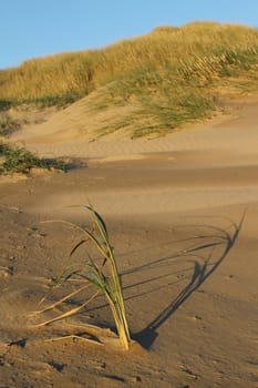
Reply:
[[[53, 321], [78, 314], [80, 310], [85, 308], [99, 294], [103, 294], [111, 308], [121, 346], [127, 350], [132, 344], [132, 339], [125, 314], [122, 282], [114, 255], [114, 248], [110, 243], [106, 225], [101, 215], [93, 208], [92, 205], [85, 207], [90, 211], [92, 216], [91, 231], [72, 223], [68, 223], [70, 226], [72, 225], [83, 234], [83, 238], [80, 239], [80, 242], [73, 247], [72, 252], [70, 253], [70, 257], [72, 258], [74, 253], [81, 246], [85, 246], [86, 249], [84, 253], [83, 263], [75, 268], [72, 265], [71, 268], [65, 269], [61, 275], [52, 279], [53, 288], [64, 286], [66, 283], [70, 283], [72, 280], [79, 284], [79, 286], [72, 293], [68, 294], [60, 300], [55, 302], [53, 305], [38, 313], [41, 314], [54, 309], [58, 305], [68, 302], [75, 295], [89, 288], [89, 286], [93, 286], [93, 293], [78, 307], [72, 307], [64, 314], [61, 314], [53, 319], [43, 321], [37, 326], [42, 327], [50, 325]], [[80, 284], [80, 280], [82, 280], [83, 285]]]

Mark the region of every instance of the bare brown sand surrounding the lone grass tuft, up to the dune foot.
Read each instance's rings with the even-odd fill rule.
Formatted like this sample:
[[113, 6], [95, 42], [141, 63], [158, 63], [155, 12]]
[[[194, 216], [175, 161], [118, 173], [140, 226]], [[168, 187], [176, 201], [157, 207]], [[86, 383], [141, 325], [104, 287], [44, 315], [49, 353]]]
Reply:
[[[0, 184], [1, 387], [258, 387], [258, 98], [230, 112], [152, 140], [51, 143], [51, 124], [45, 139], [14, 135], [41, 155], [86, 157], [87, 167]], [[87, 198], [115, 246], [141, 344], [128, 353], [85, 340], [86, 323], [113, 327], [102, 297], [33, 326], [52, 316], [33, 312], [81, 237], [40, 222], [87, 225], [85, 210], [69, 207]], [[72, 334], [81, 337], [53, 340]]]

